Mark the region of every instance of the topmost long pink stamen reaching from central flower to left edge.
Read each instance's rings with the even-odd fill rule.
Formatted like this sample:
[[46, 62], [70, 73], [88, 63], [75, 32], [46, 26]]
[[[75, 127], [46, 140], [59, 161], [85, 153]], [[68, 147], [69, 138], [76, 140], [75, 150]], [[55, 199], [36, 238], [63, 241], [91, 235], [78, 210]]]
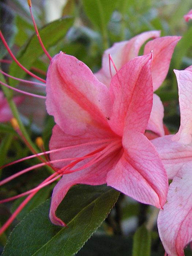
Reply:
[[31, 158], [34, 158], [34, 157], [38, 157], [38, 156], [41, 156], [41, 155], [46, 155], [46, 154], [55, 153], [55, 152], [59, 152], [59, 151], [66, 150], [66, 149], [82, 147], [82, 146], [89, 146], [89, 145], [100, 144], [100, 143], [108, 143], [110, 141], [112, 141], [112, 139], [97, 140], [95, 142], [87, 142], [87, 143], [78, 144], [78, 145], [74, 145], [74, 146], [57, 148], [57, 149], [45, 151], [45, 152], [42, 152], [42, 153], [37, 153], [37, 154], [34, 154], [34, 155], [30, 155], [29, 157], [24, 157], [22, 159], [18, 159], [18, 160], [14, 161], [14, 162], [7, 163], [6, 165], [0, 166], [0, 169], [3, 169], [3, 168], [8, 167], [10, 165], [14, 165], [15, 163], [19, 163], [19, 162], [22, 162], [22, 161], [25, 161], [25, 160], [28, 160], [28, 159], [31, 159]]

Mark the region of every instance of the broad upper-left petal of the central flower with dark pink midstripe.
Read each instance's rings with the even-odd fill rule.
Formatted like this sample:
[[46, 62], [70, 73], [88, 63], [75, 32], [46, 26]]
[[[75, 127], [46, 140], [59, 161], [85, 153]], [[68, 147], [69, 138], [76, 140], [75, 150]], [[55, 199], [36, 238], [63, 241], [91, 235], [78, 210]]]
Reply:
[[46, 91], [48, 113], [54, 116], [63, 131], [78, 135], [91, 125], [109, 128], [108, 88], [75, 57], [64, 53], [53, 57], [48, 68]]

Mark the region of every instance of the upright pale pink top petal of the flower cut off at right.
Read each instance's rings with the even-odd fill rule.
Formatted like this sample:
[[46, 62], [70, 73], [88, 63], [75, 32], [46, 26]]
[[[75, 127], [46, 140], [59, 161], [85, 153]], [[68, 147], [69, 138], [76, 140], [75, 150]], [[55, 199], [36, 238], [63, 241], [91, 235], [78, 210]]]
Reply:
[[[185, 70], [174, 70], [179, 93], [181, 123], [173, 140], [189, 144], [192, 142], [192, 66]], [[191, 71], [190, 71], [191, 70]]]

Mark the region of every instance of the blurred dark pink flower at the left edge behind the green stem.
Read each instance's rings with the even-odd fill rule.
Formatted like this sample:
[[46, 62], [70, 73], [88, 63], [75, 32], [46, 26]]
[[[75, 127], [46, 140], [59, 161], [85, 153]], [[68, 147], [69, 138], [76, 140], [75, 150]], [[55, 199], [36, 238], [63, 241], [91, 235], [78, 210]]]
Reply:
[[[14, 102], [16, 105], [23, 101], [23, 97], [14, 97]], [[8, 122], [13, 117], [11, 109], [8, 105], [7, 99], [4, 97], [2, 91], [0, 91], [0, 123]]]

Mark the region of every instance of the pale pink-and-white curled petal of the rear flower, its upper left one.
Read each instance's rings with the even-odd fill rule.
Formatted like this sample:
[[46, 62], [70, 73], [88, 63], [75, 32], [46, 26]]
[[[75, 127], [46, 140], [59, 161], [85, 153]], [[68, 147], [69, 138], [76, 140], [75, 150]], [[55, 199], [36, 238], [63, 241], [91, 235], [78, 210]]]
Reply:
[[[102, 83], [107, 86], [110, 85], [110, 69], [109, 69], [109, 53], [117, 67], [117, 70], [123, 67], [125, 63], [134, 57], [138, 56], [140, 47], [150, 38], [156, 38], [160, 36], [160, 31], [147, 31], [136, 35], [136, 37], [131, 38], [129, 41], [122, 41], [115, 43], [111, 48], [107, 49], [102, 58], [102, 69], [100, 69], [95, 76]], [[116, 74], [116, 71], [111, 65], [112, 75]]]

